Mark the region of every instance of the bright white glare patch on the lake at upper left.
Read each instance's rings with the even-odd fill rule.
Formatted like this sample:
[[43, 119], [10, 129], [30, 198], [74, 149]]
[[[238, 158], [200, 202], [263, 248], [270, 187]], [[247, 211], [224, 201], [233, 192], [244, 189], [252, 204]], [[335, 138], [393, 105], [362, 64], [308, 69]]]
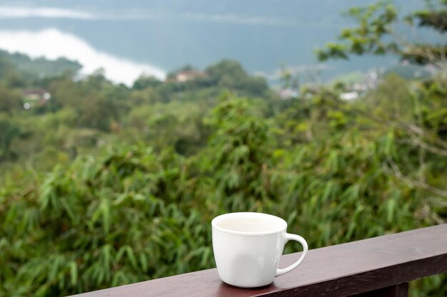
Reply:
[[103, 68], [105, 75], [115, 83], [132, 85], [142, 73], [164, 79], [161, 68], [137, 63], [96, 51], [86, 41], [55, 28], [43, 31], [0, 30], [0, 48], [9, 52], [25, 53], [31, 58], [45, 57], [55, 60], [59, 57], [76, 60], [82, 64], [82, 75], [88, 75]]

